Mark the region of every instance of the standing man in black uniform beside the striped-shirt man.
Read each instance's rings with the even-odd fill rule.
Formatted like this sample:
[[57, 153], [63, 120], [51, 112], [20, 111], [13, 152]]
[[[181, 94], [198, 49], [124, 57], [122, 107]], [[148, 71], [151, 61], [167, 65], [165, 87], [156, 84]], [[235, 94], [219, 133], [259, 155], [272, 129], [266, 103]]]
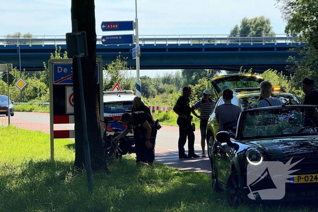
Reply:
[[[177, 124], [179, 126], [179, 159], [183, 158], [198, 158], [199, 155], [194, 153], [194, 133], [190, 121], [190, 100], [191, 88], [189, 86], [183, 87], [183, 94], [177, 100], [175, 106], [173, 106], [173, 111], [179, 115], [177, 119]], [[188, 155], [184, 152], [184, 145], [187, 141], [188, 136]]]

